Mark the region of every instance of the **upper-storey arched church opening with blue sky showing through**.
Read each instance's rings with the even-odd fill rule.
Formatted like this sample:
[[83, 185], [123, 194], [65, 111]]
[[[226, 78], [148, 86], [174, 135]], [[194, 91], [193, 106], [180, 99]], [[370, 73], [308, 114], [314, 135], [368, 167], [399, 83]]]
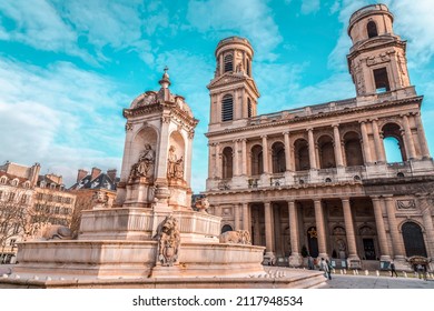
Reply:
[[406, 161], [404, 141], [398, 124], [387, 123], [383, 127], [383, 144], [388, 163]]

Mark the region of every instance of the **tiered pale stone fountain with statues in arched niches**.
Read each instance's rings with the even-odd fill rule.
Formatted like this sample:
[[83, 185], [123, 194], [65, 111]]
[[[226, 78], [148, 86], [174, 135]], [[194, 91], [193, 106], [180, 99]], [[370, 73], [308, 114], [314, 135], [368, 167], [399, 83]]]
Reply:
[[42, 288], [309, 288], [318, 272], [267, 273], [264, 248], [247, 231], [220, 235], [206, 199], [191, 209], [191, 147], [198, 123], [172, 94], [167, 69], [159, 91], [124, 110], [126, 141], [116, 203], [82, 212], [77, 240], [19, 245], [8, 287]]

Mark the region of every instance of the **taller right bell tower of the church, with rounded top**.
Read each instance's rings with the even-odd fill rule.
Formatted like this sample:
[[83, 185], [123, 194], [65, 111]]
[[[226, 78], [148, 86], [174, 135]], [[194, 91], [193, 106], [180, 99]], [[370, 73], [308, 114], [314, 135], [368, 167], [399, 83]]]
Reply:
[[385, 4], [364, 7], [349, 19], [348, 36], [353, 47], [347, 60], [357, 97], [411, 87], [406, 41], [394, 33], [393, 20]]

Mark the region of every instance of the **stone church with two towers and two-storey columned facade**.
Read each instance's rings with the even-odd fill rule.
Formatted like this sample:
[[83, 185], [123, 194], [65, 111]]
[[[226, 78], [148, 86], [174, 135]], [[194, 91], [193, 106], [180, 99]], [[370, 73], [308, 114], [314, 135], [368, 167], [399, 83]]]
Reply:
[[[216, 49], [208, 84], [206, 195], [221, 231], [248, 230], [276, 264], [309, 253], [337, 268], [411, 268], [434, 258], [434, 165], [411, 84], [406, 41], [384, 4], [354, 12], [347, 54], [356, 98], [257, 114], [247, 39]], [[385, 141], [401, 161], [388, 162]]]

